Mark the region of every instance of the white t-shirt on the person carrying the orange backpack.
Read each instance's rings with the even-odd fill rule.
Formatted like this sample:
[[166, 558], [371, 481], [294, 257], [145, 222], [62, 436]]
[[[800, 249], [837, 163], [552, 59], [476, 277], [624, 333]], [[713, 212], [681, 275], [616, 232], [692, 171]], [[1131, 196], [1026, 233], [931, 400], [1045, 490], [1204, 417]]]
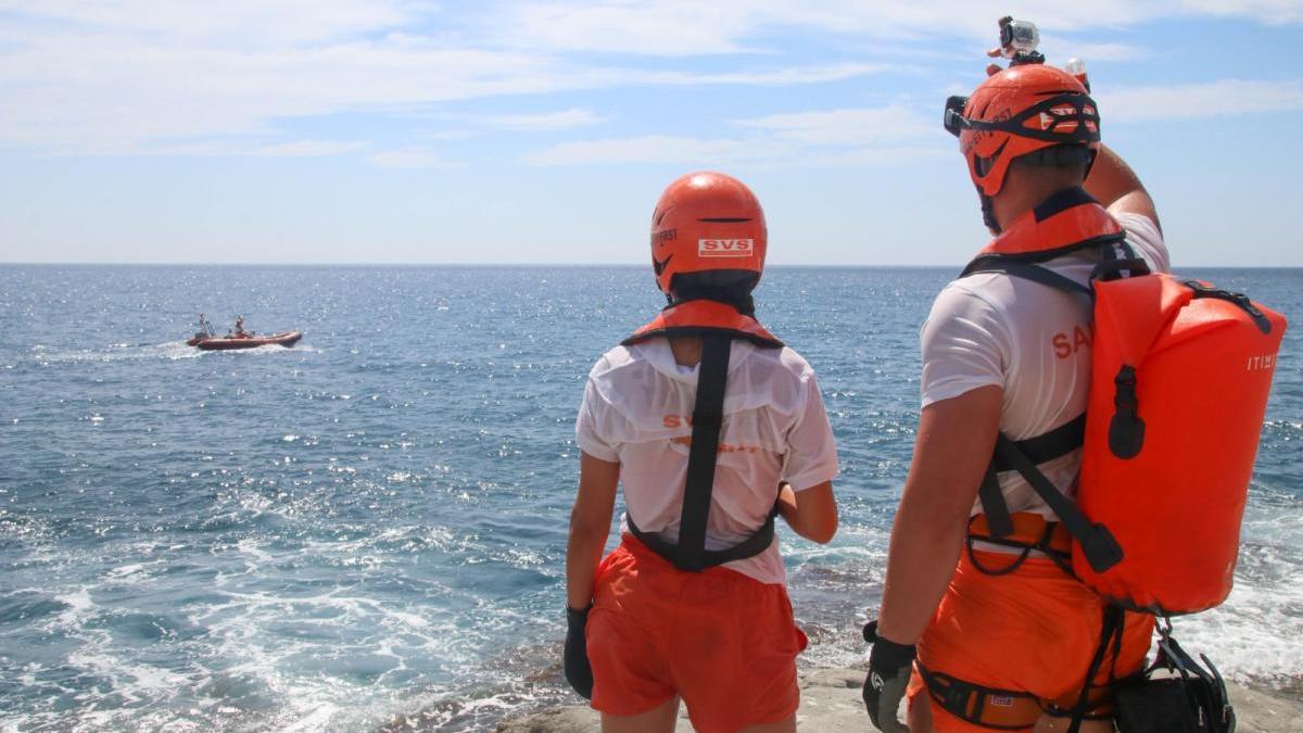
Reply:
[[[1170, 271], [1167, 247], [1153, 220], [1117, 217], [1138, 257]], [[1085, 284], [1098, 256], [1070, 254], [1044, 266]], [[1005, 390], [999, 430], [1010, 440], [1032, 438], [1085, 411], [1091, 389], [1091, 309], [1084, 297], [1024, 278], [979, 273], [951, 282], [923, 325], [923, 406], [998, 385]], [[1041, 466], [1068, 498], [1076, 497], [1081, 451]], [[999, 475], [1010, 511], [1054, 518], [1015, 471]], [[972, 514], [981, 513], [981, 502]]]

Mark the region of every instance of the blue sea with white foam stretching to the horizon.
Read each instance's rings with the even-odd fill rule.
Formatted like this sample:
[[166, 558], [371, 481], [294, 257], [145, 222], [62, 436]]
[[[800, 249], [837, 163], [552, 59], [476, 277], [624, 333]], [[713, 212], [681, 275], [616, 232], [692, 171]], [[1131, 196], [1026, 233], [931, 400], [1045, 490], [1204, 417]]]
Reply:
[[[843, 524], [783, 532], [803, 664], [856, 664], [943, 269], [773, 269], [814, 365]], [[1204, 270], [1303, 317], [1303, 270]], [[0, 267], [0, 729], [463, 730], [560, 678], [573, 417], [659, 308], [641, 267]], [[203, 353], [197, 310], [298, 327]], [[1177, 621], [1303, 689], [1303, 327], [1286, 337], [1237, 587]]]

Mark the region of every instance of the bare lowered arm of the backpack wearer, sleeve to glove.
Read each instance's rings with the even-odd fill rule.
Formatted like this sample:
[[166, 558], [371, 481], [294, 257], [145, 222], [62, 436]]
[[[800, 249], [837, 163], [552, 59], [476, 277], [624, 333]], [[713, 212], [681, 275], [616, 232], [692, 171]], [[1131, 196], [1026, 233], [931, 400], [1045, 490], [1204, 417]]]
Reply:
[[995, 447], [1003, 390], [985, 386], [923, 410], [900, 497], [878, 635], [913, 644], [946, 592]]

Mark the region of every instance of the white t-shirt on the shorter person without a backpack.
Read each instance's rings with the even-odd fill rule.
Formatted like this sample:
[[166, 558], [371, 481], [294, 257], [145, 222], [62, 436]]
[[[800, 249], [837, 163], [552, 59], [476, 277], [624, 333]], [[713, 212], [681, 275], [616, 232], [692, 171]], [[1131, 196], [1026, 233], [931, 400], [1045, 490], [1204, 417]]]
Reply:
[[[679, 536], [697, 398], [697, 366], [680, 366], [667, 339], [615, 347], [593, 366], [575, 425], [579, 447], [620, 463], [624, 506], [644, 532]], [[778, 500], [837, 477], [837, 447], [814, 370], [791, 348], [732, 342], [706, 549], [749, 537]], [[628, 531], [624, 519], [620, 530]], [[778, 541], [724, 563], [762, 583], [786, 583]]]

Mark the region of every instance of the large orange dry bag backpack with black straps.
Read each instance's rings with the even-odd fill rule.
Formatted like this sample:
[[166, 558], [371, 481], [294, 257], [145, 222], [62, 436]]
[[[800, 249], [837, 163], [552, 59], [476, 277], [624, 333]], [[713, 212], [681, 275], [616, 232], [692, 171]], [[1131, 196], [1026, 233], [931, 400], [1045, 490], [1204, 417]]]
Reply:
[[1171, 275], [1095, 283], [1095, 355], [1078, 506], [1122, 546], [1111, 601], [1192, 613], [1226, 600], [1285, 318]]

